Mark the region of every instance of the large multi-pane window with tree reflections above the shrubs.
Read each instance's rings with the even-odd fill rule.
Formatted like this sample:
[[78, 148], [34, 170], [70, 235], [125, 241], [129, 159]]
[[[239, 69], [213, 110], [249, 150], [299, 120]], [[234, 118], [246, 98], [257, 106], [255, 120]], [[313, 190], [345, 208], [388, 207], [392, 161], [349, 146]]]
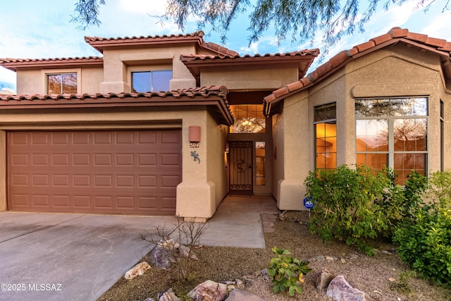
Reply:
[[428, 99], [358, 99], [355, 102], [357, 165], [389, 166], [404, 185], [415, 170], [426, 176]]

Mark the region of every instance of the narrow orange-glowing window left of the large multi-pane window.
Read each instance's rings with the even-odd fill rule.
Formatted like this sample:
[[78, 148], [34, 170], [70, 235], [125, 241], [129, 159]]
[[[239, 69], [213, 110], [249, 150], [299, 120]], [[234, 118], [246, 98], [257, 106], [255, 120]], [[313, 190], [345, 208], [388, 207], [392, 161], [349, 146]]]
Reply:
[[336, 104], [315, 107], [315, 168], [337, 168]]

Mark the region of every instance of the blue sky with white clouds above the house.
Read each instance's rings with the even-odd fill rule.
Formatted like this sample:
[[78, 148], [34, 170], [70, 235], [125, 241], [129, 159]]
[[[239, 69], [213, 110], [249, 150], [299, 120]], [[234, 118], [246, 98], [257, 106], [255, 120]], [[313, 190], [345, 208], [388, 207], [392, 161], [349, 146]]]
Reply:
[[[407, 28], [410, 32], [451, 42], [451, 11], [442, 12], [445, 0], [435, 1], [427, 13], [423, 8], [415, 9], [418, 1], [406, 0], [402, 6], [391, 6], [388, 11], [380, 7], [366, 24], [364, 33], [357, 32], [343, 37], [329, 49], [327, 55], [321, 57], [322, 61], [316, 59], [307, 73], [338, 52], [383, 35], [393, 27]], [[74, 8], [75, 0], [0, 0], [0, 59], [101, 56], [85, 42], [85, 36], [153, 36], [187, 34], [197, 30], [195, 20], [190, 20], [185, 30], [181, 31], [171, 22], [162, 24], [159, 18], [152, 17], [164, 13], [166, 0], [106, 0], [106, 5], [100, 8], [101, 25], [94, 25], [86, 30], [80, 30], [77, 24], [70, 23]], [[313, 48], [323, 50], [321, 32], [316, 33], [314, 44], [292, 43], [290, 39], [277, 44], [275, 35], [268, 30], [259, 42], [249, 45], [249, 32], [244, 30], [248, 27], [249, 13], [250, 11], [233, 22], [224, 47], [235, 50], [240, 55], [275, 54]], [[204, 32], [206, 42], [221, 44], [220, 35], [209, 32], [208, 29]], [[16, 90], [16, 73], [0, 67], [0, 90], [2, 87]]]

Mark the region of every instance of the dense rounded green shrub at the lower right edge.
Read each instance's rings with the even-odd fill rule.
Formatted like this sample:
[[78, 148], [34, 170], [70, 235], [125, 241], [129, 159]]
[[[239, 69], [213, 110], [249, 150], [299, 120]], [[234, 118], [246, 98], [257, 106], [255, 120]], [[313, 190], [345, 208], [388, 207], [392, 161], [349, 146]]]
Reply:
[[414, 271], [438, 283], [451, 283], [451, 209], [419, 211], [416, 223], [400, 227], [393, 240]]

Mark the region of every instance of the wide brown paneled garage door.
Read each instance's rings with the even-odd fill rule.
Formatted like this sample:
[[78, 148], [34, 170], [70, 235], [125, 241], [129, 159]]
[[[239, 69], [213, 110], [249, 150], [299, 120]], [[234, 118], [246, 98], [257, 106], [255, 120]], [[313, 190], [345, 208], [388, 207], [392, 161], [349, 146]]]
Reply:
[[8, 208], [175, 214], [180, 130], [8, 133]]

